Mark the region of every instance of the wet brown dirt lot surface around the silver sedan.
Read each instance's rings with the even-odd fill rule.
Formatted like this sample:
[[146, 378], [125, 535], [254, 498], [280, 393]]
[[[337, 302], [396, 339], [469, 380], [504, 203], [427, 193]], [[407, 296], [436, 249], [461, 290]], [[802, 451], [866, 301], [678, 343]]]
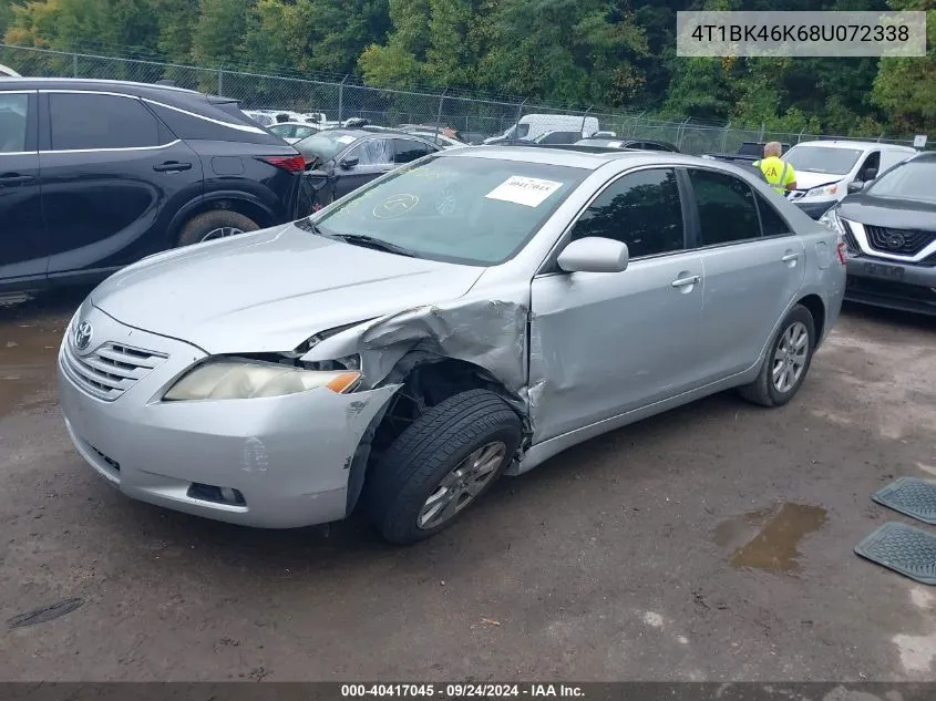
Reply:
[[8, 680], [922, 680], [936, 592], [853, 546], [936, 475], [936, 320], [846, 310], [788, 408], [719, 395], [505, 480], [407, 549], [124, 498], [55, 405], [79, 301], [0, 309]]

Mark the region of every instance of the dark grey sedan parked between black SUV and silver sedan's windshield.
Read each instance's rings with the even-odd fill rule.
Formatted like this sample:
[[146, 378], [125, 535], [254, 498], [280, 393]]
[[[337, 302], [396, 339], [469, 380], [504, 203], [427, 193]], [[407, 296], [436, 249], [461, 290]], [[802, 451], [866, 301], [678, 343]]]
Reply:
[[320, 209], [395, 167], [440, 151], [422, 136], [325, 130], [294, 144], [306, 158], [302, 208]]

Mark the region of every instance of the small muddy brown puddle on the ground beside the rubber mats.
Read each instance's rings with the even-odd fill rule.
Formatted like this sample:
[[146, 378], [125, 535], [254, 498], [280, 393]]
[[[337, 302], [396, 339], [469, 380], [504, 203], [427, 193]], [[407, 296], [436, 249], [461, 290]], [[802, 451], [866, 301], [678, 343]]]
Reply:
[[730, 563], [736, 569], [798, 573], [800, 542], [825, 520], [826, 512], [819, 506], [783, 504], [779, 509], [749, 512], [720, 523], [713, 539], [721, 547], [733, 548]]

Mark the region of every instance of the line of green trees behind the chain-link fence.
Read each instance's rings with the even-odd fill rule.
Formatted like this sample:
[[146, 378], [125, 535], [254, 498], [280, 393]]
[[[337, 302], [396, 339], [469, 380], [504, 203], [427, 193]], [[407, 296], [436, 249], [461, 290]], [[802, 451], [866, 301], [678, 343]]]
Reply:
[[842, 135], [936, 131], [936, 0], [784, 0], [926, 10], [914, 59], [687, 59], [678, 10], [775, 0], [0, 0], [8, 44], [145, 50], [171, 62], [362, 75], [595, 110]]

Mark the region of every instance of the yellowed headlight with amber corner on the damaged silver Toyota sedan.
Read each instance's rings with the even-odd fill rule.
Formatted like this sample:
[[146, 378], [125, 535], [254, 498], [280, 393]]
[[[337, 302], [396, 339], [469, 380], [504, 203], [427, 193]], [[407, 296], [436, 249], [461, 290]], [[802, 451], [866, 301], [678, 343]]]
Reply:
[[320, 386], [340, 394], [352, 389], [360, 377], [360, 372], [326, 372], [275, 363], [217, 360], [184, 375], [163, 399], [255, 399], [295, 394]]

